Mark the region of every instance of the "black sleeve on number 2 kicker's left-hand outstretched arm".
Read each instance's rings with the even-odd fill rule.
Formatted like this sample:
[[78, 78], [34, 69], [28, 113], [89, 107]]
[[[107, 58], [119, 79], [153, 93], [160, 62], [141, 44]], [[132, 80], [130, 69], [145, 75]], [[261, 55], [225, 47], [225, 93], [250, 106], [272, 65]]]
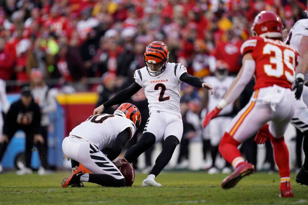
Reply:
[[125, 88], [118, 92], [113, 98], [106, 101], [103, 105], [105, 108], [120, 104], [124, 102], [125, 100], [129, 99], [131, 96], [133, 96], [136, 92], [138, 92], [142, 87], [134, 81], [128, 88]]

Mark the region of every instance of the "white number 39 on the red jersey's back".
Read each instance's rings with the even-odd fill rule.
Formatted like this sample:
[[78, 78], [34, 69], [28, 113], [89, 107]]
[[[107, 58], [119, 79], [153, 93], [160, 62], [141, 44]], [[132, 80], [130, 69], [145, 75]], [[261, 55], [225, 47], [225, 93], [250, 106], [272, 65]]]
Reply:
[[[264, 72], [268, 76], [274, 76], [280, 78], [283, 74], [286, 76], [289, 82], [293, 82], [294, 80], [294, 68], [295, 68], [295, 53], [290, 49], [285, 49], [283, 52], [278, 46], [273, 44], [266, 44], [263, 47], [263, 54], [271, 54], [271, 52], [275, 53], [274, 57], [270, 57], [271, 64], [264, 65]], [[292, 58], [292, 62], [290, 62], [290, 58]], [[292, 71], [286, 71], [283, 69], [283, 63]], [[272, 67], [272, 64], [276, 64], [276, 69]]]

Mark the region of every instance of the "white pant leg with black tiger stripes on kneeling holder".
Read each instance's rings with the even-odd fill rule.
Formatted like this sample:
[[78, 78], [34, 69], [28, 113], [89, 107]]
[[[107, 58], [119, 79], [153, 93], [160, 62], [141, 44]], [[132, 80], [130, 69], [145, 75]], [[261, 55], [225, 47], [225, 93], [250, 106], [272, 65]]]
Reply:
[[80, 146], [82, 152], [78, 152], [78, 162], [94, 174], [107, 174], [115, 179], [123, 179], [124, 176], [118, 168], [95, 145], [85, 143]]

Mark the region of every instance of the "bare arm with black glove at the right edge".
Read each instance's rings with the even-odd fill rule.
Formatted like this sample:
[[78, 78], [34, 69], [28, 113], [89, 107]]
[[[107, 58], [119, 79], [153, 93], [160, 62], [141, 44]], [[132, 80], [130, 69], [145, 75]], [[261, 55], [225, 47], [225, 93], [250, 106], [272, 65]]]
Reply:
[[303, 36], [299, 46], [300, 61], [295, 68], [295, 91], [296, 99], [300, 99], [303, 92], [304, 77], [308, 68], [308, 36]]

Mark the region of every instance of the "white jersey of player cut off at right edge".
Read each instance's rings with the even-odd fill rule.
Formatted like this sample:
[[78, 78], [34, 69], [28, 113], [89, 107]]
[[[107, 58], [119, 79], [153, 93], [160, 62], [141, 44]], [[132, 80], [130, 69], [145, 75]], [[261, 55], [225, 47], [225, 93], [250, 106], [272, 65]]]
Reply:
[[[295, 22], [290, 29], [287, 38], [284, 43], [290, 45], [297, 52], [300, 47], [300, 40], [303, 36], [308, 36], [308, 19], [300, 19]], [[305, 82], [308, 80], [308, 72], [305, 73]]]

